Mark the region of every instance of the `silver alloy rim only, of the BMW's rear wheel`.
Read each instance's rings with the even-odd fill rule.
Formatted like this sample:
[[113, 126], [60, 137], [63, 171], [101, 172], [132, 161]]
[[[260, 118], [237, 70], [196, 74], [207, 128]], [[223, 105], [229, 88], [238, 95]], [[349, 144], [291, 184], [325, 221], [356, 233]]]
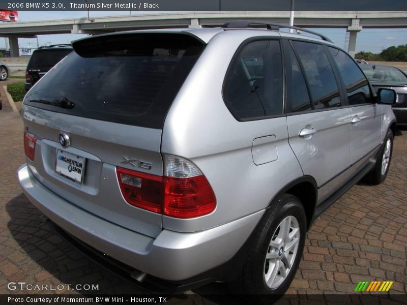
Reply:
[[264, 268], [264, 280], [269, 288], [277, 288], [287, 278], [297, 256], [300, 233], [300, 225], [294, 216], [284, 218], [274, 232]]

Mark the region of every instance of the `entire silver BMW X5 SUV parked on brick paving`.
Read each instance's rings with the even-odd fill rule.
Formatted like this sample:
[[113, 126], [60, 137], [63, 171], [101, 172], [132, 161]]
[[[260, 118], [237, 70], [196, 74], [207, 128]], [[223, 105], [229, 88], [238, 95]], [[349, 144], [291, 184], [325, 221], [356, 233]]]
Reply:
[[396, 121], [394, 90], [376, 95], [328, 38], [280, 27], [73, 42], [23, 102], [24, 193], [141, 285], [284, 293], [313, 220], [385, 179]]

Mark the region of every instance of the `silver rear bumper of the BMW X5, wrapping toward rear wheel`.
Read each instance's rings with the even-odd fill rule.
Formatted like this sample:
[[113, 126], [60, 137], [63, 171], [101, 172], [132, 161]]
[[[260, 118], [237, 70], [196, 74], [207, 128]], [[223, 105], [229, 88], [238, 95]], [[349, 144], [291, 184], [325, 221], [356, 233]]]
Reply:
[[208, 230], [162, 230], [152, 238], [85, 211], [43, 186], [29, 166], [18, 169], [24, 194], [52, 222], [108, 256], [148, 275], [183, 281], [230, 260], [243, 246], [264, 210]]

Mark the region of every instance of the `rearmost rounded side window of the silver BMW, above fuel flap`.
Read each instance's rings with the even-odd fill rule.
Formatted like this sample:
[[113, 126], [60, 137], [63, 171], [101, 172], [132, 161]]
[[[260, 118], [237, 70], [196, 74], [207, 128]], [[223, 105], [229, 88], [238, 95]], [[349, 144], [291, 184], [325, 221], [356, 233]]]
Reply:
[[282, 114], [283, 71], [276, 40], [246, 45], [226, 75], [223, 97], [237, 119]]

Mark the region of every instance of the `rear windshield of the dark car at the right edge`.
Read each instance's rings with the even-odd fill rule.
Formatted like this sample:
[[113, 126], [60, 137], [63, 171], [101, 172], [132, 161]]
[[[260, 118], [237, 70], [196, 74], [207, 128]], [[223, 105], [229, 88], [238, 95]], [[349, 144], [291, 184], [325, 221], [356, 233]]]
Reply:
[[407, 82], [407, 77], [400, 70], [392, 66], [360, 65], [359, 67], [371, 82]]

